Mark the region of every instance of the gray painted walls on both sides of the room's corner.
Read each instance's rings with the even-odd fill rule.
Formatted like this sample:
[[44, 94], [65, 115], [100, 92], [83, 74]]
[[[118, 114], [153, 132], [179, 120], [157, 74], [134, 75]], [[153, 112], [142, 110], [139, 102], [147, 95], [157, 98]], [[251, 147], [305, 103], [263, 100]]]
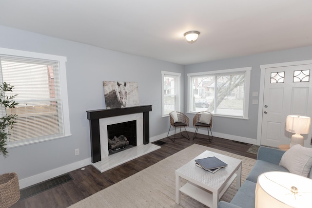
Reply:
[[[153, 105], [153, 110], [150, 112], [150, 136], [156, 137], [166, 134], [169, 128], [169, 119], [161, 117], [162, 70], [182, 74], [181, 86], [184, 88], [181, 89], [181, 111], [185, 112], [187, 73], [251, 66], [251, 94], [254, 91], [259, 92], [261, 64], [312, 59], [312, 47], [304, 47], [182, 66], [4, 26], [0, 26], [0, 47], [67, 57], [66, 72], [72, 136], [10, 148], [6, 158], [0, 155], [0, 174], [17, 172], [20, 179], [91, 156], [86, 111], [105, 108], [103, 80], [138, 82], [140, 105]], [[256, 139], [258, 105], [252, 105], [251, 100], [250, 95], [249, 120], [214, 117], [213, 131]], [[194, 114], [188, 116], [192, 123]], [[192, 124], [190, 128], [193, 128]], [[74, 156], [74, 150], [78, 148], [80, 154]]]

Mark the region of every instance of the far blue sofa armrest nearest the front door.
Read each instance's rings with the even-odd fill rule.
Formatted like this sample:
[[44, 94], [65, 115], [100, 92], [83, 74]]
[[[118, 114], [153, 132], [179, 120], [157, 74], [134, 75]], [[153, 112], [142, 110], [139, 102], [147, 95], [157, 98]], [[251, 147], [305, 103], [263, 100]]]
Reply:
[[257, 160], [263, 160], [275, 165], [279, 164], [285, 151], [261, 146], [258, 150]]

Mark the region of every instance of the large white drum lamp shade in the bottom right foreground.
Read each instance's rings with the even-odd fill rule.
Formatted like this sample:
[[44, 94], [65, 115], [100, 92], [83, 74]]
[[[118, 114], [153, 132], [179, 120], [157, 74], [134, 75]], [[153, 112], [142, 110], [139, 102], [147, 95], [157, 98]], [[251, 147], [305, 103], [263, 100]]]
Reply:
[[[297, 193], [292, 189], [295, 187]], [[255, 188], [256, 208], [311, 208], [312, 179], [290, 172], [259, 175]]]

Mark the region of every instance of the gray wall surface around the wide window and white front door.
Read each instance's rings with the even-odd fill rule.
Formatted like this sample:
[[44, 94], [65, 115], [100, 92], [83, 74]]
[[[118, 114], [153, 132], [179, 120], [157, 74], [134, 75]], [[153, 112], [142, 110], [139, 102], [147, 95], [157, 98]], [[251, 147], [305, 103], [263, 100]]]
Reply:
[[[187, 83], [188, 73], [252, 67], [249, 95], [249, 120], [214, 116], [212, 131], [222, 134], [235, 135], [238, 137], [256, 139], [259, 106], [252, 104], [252, 99], [256, 99], [255, 97], [252, 97], [252, 92], [259, 93], [260, 65], [308, 59], [312, 59], [311, 46], [187, 65], [185, 67], [185, 83]], [[185, 86], [186, 91], [187, 84], [185, 84]], [[187, 102], [185, 101], [185, 105], [186, 103]], [[187, 113], [187, 115], [189, 117], [194, 117], [194, 114]]]

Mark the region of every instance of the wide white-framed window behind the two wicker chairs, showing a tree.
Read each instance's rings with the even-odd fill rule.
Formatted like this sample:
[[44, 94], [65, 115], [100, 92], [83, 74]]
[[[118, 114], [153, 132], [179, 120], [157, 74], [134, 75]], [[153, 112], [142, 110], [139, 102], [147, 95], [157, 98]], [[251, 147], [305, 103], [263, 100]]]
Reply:
[[188, 74], [189, 112], [248, 118], [251, 67]]

